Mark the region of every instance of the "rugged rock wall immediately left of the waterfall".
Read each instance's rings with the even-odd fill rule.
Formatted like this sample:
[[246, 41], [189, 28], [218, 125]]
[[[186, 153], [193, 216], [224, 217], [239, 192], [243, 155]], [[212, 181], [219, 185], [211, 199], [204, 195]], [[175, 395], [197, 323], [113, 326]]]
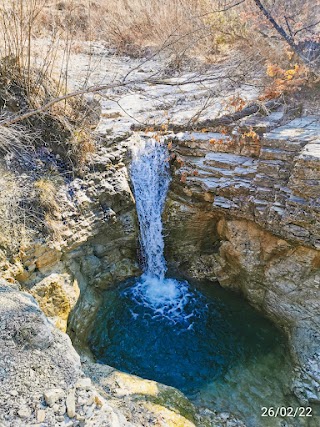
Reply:
[[102, 141], [87, 172], [59, 186], [54, 235], [38, 235], [2, 265], [1, 276], [28, 290], [56, 326], [65, 331], [69, 320], [75, 341], [85, 340], [101, 291], [140, 271], [127, 151]]

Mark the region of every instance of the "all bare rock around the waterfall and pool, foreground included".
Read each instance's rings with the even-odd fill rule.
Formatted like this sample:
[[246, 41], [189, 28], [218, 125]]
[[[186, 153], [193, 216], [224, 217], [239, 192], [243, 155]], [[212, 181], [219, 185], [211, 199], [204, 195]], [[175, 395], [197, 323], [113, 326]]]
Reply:
[[[228, 114], [235, 93], [250, 101], [259, 90], [250, 76], [235, 82], [228, 63], [201, 82], [198, 71], [170, 76], [154, 58], [141, 63], [101, 45], [93, 59], [84, 49], [70, 63], [74, 88], [86, 76], [92, 85], [131, 83], [104, 93], [96, 153], [82, 176], [61, 181], [55, 239], [38, 236], [1, 261], [0, 425], [241, 426], [199, 412], [172, 388], [95, 365], [86, 337], [101, 291], [140, 271], [129, 148], [154, 132], [132, 126], [190, 127]], [[320, 402], [319, 130], [318, 116], [292, 120], [280, 107], [224, 129], [166, 134], [170, 269], [241, 291], [286, 330], [303, 404]]]

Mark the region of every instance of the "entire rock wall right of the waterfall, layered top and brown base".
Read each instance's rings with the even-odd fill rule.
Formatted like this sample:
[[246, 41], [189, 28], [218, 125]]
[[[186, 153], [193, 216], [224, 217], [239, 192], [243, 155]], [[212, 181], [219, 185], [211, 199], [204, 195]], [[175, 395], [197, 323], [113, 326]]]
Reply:
[[276, 119], [175, 136], [167, 259], [241, 292], [287, 331], [303, 365], [320, 356], [320, 123]]

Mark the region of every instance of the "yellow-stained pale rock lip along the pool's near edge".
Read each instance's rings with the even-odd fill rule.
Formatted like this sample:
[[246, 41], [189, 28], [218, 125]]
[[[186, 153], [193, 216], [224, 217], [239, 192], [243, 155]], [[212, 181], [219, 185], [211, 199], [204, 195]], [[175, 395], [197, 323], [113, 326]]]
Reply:
[[[111, 423], [110, 426], [118, 425], [120, 422], [121, 426], [128, 427], [149, 425], [159, 427], [227, 427], [229, 425], [245, 427], [240, 420], [230, 414], [225, 422], [218, 419], [219, 414], [214, 414], [209, 410], [207, 413], [199, 411], [180, 391], [173, 387], [125, 374], [96, 363], [87, 362], [84, 368], [86, 373], [92, 376], [94, 383], [99, 385], [99, 389], [103, 390], [101, 391], [102, 396], [99, 396], [99, 400], [102, 402], [100, 417], [108, 407], [108, 401], [106, 402], [105, 399], [110, 396], [121, 411], [116, 418], [113, 414], [112, 421], [115, 424]], [[104, 419], [106, 419], [105, 416]]]

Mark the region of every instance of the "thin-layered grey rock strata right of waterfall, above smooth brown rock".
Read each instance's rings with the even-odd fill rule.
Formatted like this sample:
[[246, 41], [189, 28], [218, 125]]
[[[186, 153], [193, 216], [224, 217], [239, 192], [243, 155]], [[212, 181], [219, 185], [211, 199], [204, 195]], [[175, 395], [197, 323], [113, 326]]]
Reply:
[[[284, 239], [317, 247], [319, 133], [319, 117], [295, 119], [260, 137], [253, 152], [239, 131], [227, 143], [222, 143], [223, 135], [178, 134], [174, 149], [184, 166], [176, 170], [172, 190], [204, 202], [209, 202], [209, 193], [213, 211], [252, 220]], [[185, 184], [179, 179], [182, 172], [187, 173]]]

